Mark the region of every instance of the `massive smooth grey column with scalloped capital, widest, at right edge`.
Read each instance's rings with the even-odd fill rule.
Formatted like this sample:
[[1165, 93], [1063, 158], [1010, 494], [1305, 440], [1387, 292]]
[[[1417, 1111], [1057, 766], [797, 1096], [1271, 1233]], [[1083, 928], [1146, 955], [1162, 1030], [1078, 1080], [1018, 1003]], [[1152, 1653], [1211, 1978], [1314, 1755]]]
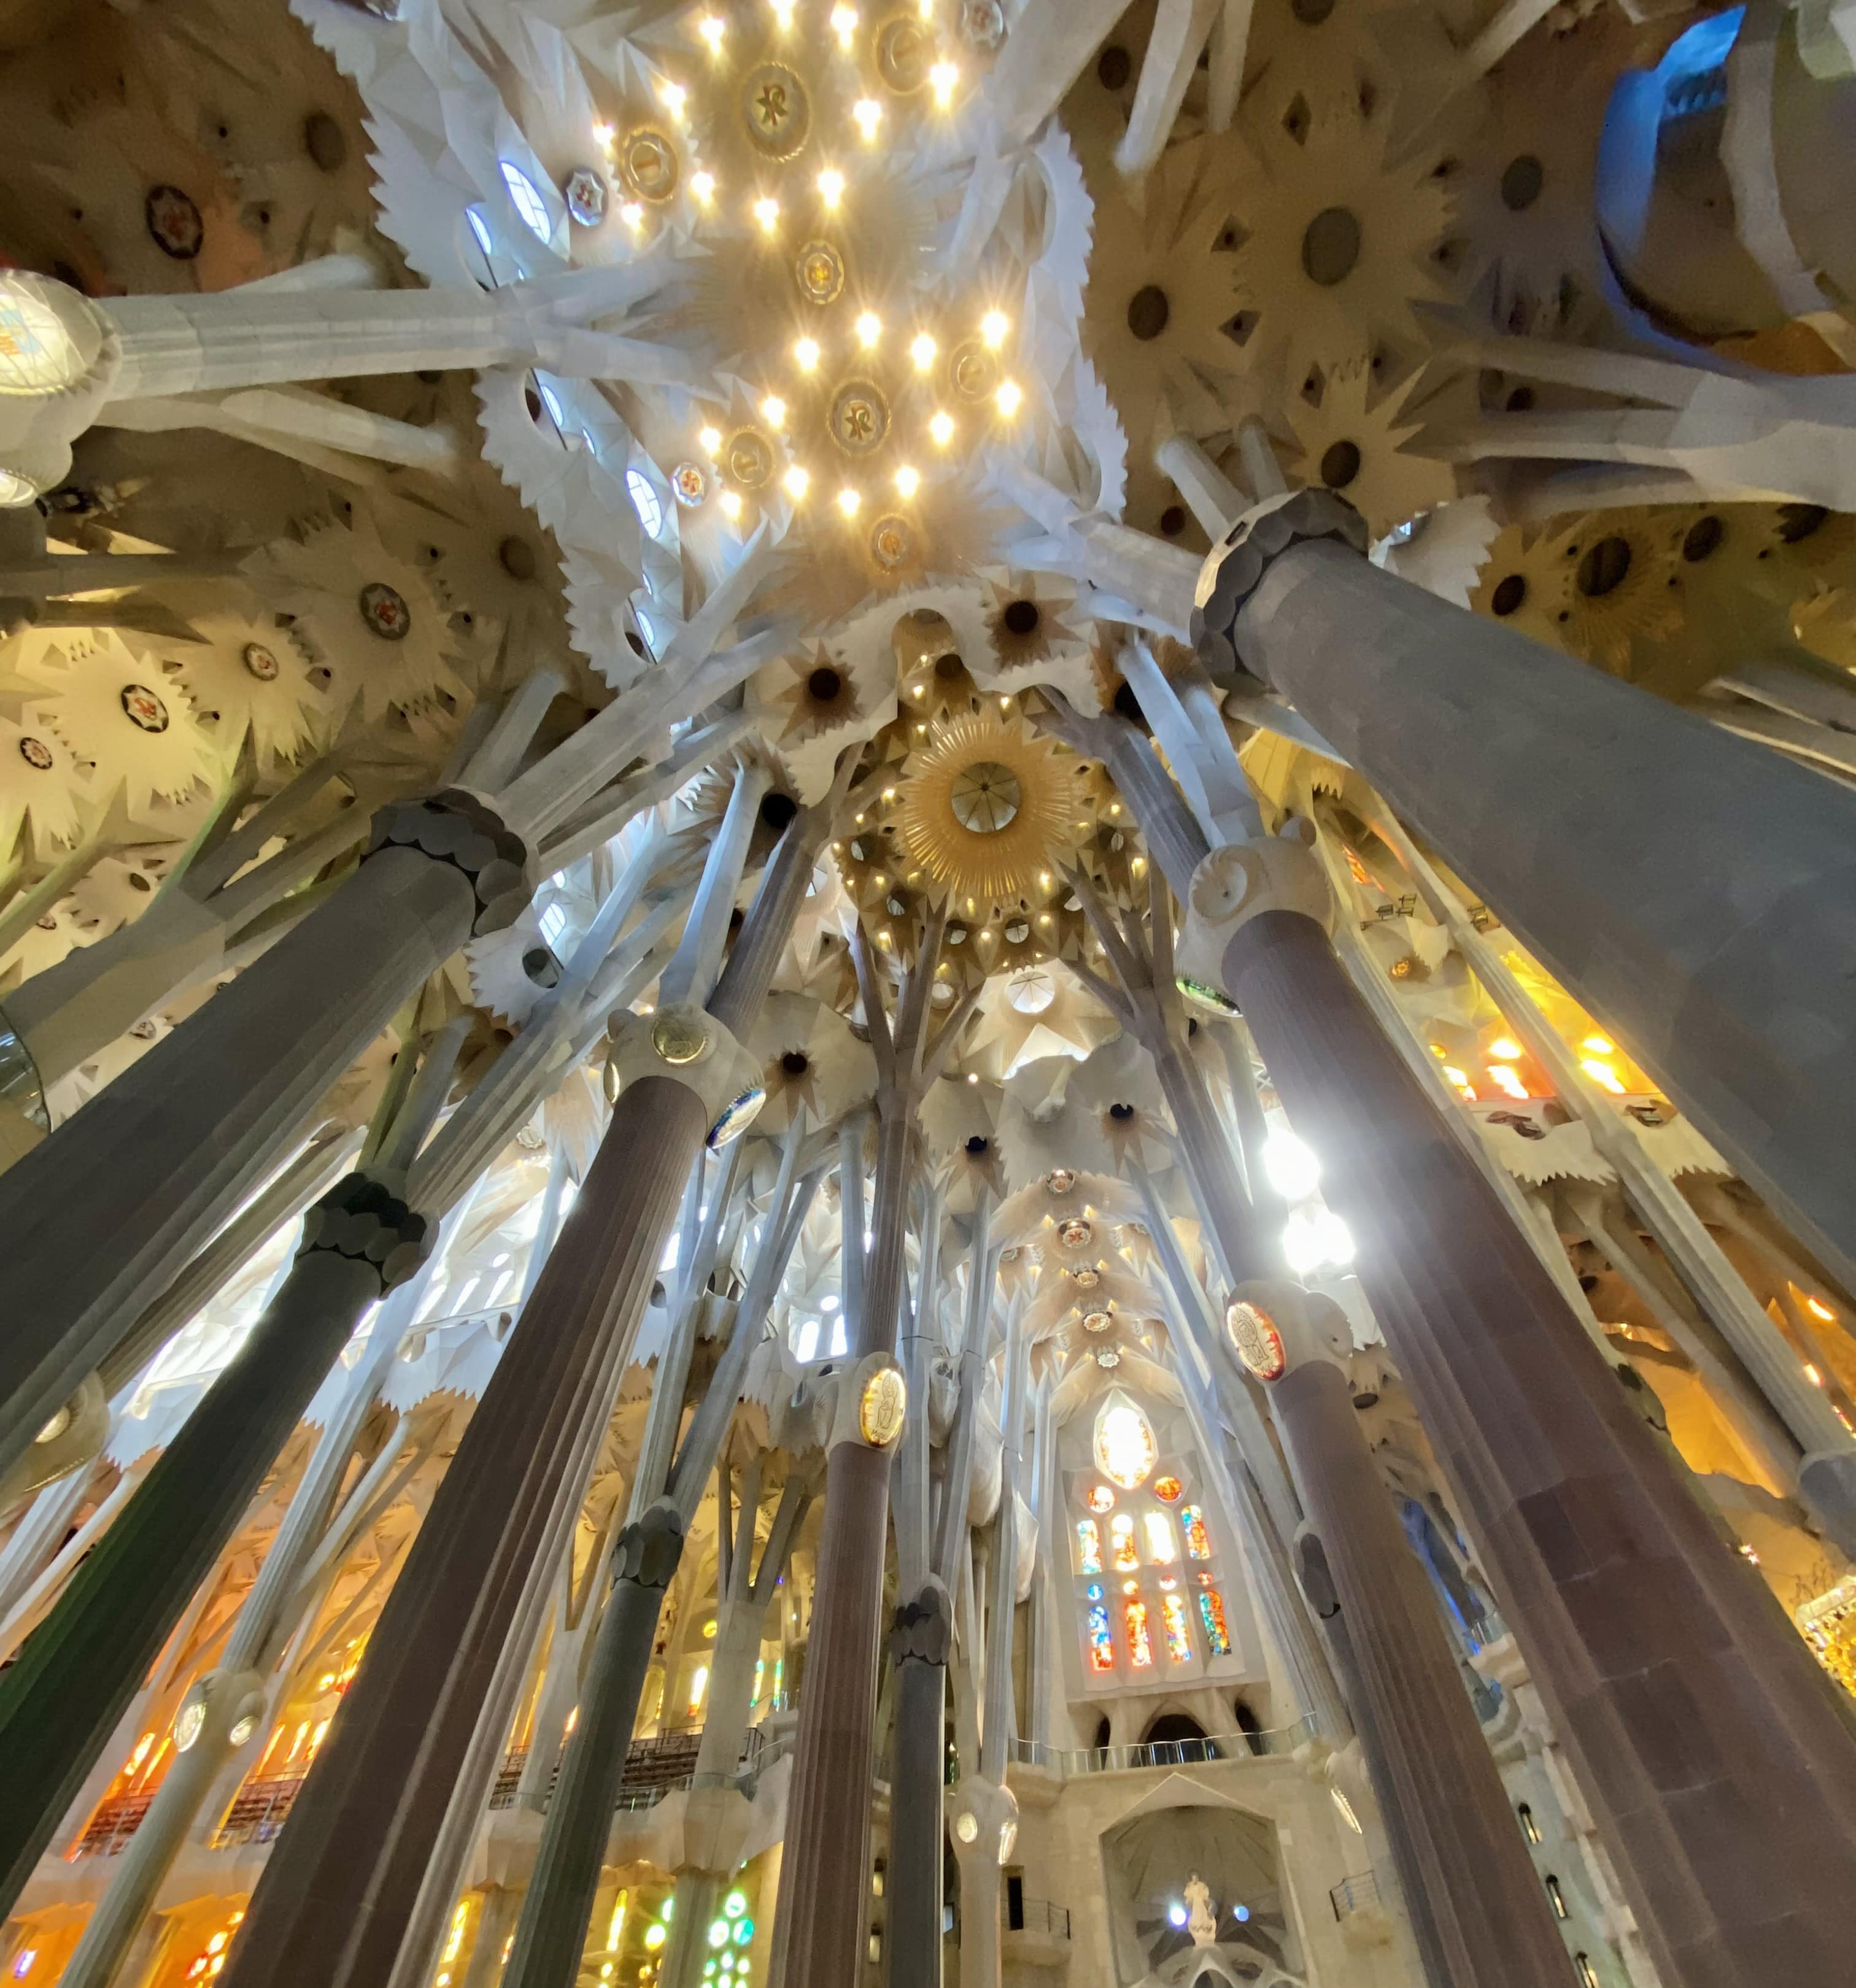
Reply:
[[1327, 493], [1215, 547], [1194, 634], [1289, 698], [1856, 1278], [1856, 793], [1357, 557]]

